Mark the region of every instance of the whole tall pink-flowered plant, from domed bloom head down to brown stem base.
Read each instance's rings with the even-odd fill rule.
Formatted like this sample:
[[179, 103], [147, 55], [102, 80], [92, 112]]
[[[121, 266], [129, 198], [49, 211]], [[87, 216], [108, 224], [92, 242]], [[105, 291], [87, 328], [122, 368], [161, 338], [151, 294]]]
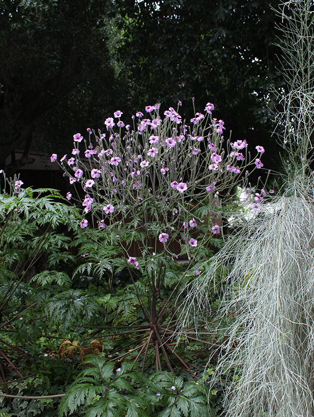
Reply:
[[[113, 273], [114, 267], [116, 272], [128, 267], [148, 320], [147, 338], [139, 342], [135, 360], [143, 352], [145, 364], [153, 344], [157, 370], [161, 369], [159, 348], [172, 370], [168, 355], [176, 353], [167, 340], [174, 335], [174, 321], [168, 318], [166, 329], [162, 323], [169, 316], [171, 297], [184, 277], [161, 305], [159, 296], [167, 279], [167, 264], [182, 255], [190, 263], [204, 256], [210, 239], [221, 234], [214, 221], [220, 197], [228, 195], [235, 182], [245, 180], [250, 167], [262, 167], [264, 152], [257, 147], [256, 159], [250, 162], [245, 140], [225, 141], [224, 122], [212, 118], [213, 104], [206, 105], [204, 114], [196, 112], [189, 124], [182, 121], [180, 105], [177, 110], [170, 107], [163, 116], [159, 104], [147, 106], [145, 115], [137, 112], [132, 116], [132, 125], [125, 125], [123, 113], [116, 111], [114, 117], [105, 120], [104, 132], [96, 134], [87, 129], [85, 138], [76, 133], [72, 154], [60, 159], [64, 176], [71, 184], [81, 184], [85, 192], [81, 202], [84, 218], [80, 221], [83, 233], [93, 242], [103, 239], [106, 252], [109, 247], [119, 247], [122, 254], [115, 263], [101, 259], [100, 253], [83, 254], [89, 261], [87, 269], [94, 267], [101, 273], [111, 268]], [[53, 154], [51, 160], [58, 161], [57, 155]], [[70, 200], [72, 193], [67, 198]], [[258, 209], [257, 204], [252, 209]], [[134, 253], [134, 241], [139, 257]], [[196, 268], [195, 273], [200, 272]], [[146, 291], [150, 288], [144, 299], [135, 274]], [[193, 374], [182, 358], [180, 361]]]

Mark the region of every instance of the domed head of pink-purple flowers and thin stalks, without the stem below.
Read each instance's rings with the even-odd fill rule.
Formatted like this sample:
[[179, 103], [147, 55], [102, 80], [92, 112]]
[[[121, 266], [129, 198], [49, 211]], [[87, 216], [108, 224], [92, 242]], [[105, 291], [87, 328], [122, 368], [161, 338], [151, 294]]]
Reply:
[[[190, 125], [179, 114], [179, 105], [177, 110], [169, 107], [163, 117], [159, 104], [146, 106], [147, 116], [140, 111], [132, 116], [132, 128], [117, 110], [105, 120], [104, 132], [87, 129], [83, 156], [78, 144], [84, 137], [74, 134], [72, 154], [64, 155], [60, 164], [69, 182], [80, 183], [86, 192], [81, 203], [84, 213], [96, 216], [100, 230], [116, 236], [119, 229], [123, 239], [121, 224], [127, 226], [129, 221], [134, 230], [141, 229], [142, 242], [153, 237], [163, 251], [170, 252], [169, 243], [176, 240], [182, 253], [190, 256], [206, 228], [212, 235], [221, 233], [218, 224], [208, 224], [194, 208], [205, 205], [217, 210], [222, 190], [228, 195], [235, 182], [247, 177], [250, 166], [262, 168], [264, 149], [257, 146], [255, 160], [248, 161], [246, 140], [225, 141], [223, 120], [211, 117], [213, 104], [206, 104], [204, 114], [196, 112]], [[52, 154], [51, 160], [58, 161], [57, 155]], [[71, 197], [68, 193], [67, 199]], [[258, 210], [262, 192], [255, 200]], [[83, 219], [80, 227], [88, 224]], [[136, 258], [128, 257], [138, 269]]]

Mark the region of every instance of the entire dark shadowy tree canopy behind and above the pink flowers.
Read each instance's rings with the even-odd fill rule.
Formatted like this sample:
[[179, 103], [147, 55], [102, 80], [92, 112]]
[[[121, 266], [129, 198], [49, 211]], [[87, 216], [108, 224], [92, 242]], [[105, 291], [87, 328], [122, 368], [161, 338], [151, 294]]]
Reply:
[[[76, 131], [127, 119], [147, 104], [207, 102], [234, 140], [272, 148], [273, 86], [283, 85], [274, 46], [279, 0], [2, 0], [0, 167], [32, 137], [50, 152]], [[69, 142], [70, 145], [70, 142]], [[67, 147], [66, 145], [64, 147]], [[274, 150], [275, 149], [275, 150]], [[63, 150], [63, 149], [62, 149]], [[54, 149], [55, 151], [55, 149]], [[61, 151], [61, 150], [60, 150]]]

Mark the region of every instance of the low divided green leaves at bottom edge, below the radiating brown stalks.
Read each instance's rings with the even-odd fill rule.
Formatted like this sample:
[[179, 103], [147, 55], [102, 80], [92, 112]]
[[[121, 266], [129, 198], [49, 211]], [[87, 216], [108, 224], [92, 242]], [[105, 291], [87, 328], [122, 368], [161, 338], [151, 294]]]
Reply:
[[147, 378], [131, 363], [115, 369], [96, 355], [85, 364], [91, 367], [79, 374], [63, 398], [59, 417], [82, 405], [86, 417], [214, 416], [209, 411], [208, 388], [201, 382], [184, 382], [167, 372]]

